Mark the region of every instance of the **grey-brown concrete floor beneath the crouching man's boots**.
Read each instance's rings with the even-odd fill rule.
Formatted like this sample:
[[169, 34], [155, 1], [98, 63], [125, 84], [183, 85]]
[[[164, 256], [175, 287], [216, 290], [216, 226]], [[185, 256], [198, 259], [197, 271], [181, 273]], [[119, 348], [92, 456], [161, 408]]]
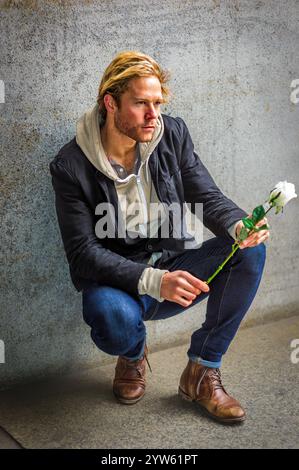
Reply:
[[113, 363], [1, 392], [0, 424], [25, 448], [298, 448], [295, 338], [299, 316], [239, 330], [222, 377], [246, 410], [241, 425], [211, 421], [178, 397], [188, 344], [150, 352], [147, 393], [134, 406], [115, 402]]

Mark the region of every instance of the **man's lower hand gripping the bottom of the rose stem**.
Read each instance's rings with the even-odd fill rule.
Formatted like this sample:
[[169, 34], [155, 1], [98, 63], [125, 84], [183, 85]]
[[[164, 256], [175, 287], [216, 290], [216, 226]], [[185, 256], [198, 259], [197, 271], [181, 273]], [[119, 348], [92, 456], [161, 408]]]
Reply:
[[188, 271], [173, 271], [163, 275], [160, 295], [170, 302], [189, 307], [201, 292], [209, 290], [208, 284]]

